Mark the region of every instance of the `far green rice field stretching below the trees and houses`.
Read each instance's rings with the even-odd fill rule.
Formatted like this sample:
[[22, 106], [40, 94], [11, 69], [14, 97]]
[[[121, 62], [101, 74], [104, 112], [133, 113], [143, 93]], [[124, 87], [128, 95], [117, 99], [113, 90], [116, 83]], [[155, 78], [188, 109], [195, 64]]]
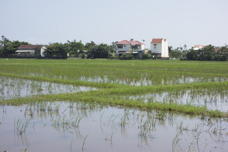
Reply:
[[11, 59], [0, 60], [0, 64], [1, 73], [79, 82], [82, 77], [99, 77], [113, 85], [118, 82], [115, 80], [130, 83], [146, 79], [159, 85], [223, 81], [228, 76], [227, 62]]

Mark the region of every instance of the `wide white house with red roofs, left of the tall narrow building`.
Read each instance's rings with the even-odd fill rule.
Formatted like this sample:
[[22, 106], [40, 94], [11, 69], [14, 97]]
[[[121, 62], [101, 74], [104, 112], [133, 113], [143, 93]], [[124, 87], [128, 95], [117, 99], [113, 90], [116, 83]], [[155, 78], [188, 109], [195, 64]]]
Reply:
[[124, 54], [124, 53], [138, 53], [139, 51], [143, 51], [145, 49], [145, 45], [142, 42], [135, 41], [131, 39], [122, 40], [115, 42], [116, 45], [116, 54]]

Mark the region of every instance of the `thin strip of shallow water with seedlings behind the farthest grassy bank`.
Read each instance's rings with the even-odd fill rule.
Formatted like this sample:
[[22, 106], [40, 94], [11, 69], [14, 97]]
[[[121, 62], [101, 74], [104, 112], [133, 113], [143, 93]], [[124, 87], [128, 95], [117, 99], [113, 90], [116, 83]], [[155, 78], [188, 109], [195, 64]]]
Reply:
[[[30, 73], [30, 76], [44, 76], [50, 77], [44, 74]], [[167, 74], [168, 75], [168, 74]], [[184, 84], [184, 83], [193, 83], [193, 82], [223, 82], [228, 81], [226, 77], [192, 77], [192, 76], [164, 76], [157, 75], [156, 73], [150, 77], [147, 75], [142, 75], [139, 78], [130, 78], [128, 76], [124, 77], [110, 77], [107, 75], [99, 76], [51, 76], [56, 79], [67, 79], [67, 80], [80, 80], [80, 81], [88, 81], [88, 82], [96, 82], [96, 83], [112, 83], [112, 84], [124, 84], [130, 86], [150, 86], [150, 85], [171, 85], [171, 84]]]

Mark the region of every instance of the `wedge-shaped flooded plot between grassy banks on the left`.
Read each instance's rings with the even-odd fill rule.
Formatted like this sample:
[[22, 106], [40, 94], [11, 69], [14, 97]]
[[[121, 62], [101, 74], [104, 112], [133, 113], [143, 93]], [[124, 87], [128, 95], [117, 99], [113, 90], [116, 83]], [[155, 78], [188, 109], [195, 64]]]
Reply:
[[0, 77], [0, 100], [40, 94], [90, 91], [95, 88]]

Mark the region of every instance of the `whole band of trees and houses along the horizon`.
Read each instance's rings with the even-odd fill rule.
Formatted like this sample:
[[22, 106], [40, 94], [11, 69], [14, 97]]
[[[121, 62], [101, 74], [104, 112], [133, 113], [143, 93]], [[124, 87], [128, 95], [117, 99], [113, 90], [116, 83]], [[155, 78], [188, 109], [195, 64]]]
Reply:
[[[6, 40], [5, 40], [6, 41]], [[228, 47], [214, 47], [212, 45], [194, 45], [191, 49], [173, 49], [165, 38], [153, 38], [150, 48], [138, 40], [120, 40], [112, 45], [68, 41], [65, 44], [32, 45], [17, 42], [11, 50], [2, 38], [0, 43], [0, 57], [15, 58], [112, 58], [112, 59], [188, 59], [188, 60], [228, 60]], [[11, 42], [7, 39], [8, 43]], [[15, 42], [15, 41], [14, 41]], [[13, 42], [12, 42], [13, 43]], [[20, 44], [20, 45], [19, 45]], [[4, 49], [5, 48], [5, 49]], [[5, 52], [4, 52], [5, 51]], [[7, 54], [11, 52], [11, 54]]]

